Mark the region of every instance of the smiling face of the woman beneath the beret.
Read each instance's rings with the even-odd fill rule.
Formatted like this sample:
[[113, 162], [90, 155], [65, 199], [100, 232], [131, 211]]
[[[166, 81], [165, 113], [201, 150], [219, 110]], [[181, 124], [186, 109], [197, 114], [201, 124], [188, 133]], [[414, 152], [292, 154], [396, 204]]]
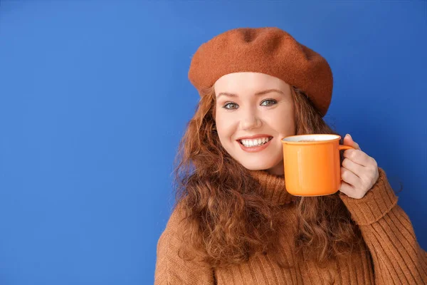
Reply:
[[290, 86], [264, 73], [239, 72], [219, 78], [214, 89], [221, 145], [248, 170], [283, 175], [280, 140], [295, 135]]

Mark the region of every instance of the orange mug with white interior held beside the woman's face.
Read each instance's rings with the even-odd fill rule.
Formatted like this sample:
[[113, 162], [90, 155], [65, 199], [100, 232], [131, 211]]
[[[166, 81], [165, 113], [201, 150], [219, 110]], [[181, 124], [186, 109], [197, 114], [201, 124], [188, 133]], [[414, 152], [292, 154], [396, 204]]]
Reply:
[[292, 135], [282, 138], [286, 190], [295, 196], [331, 195], [341, 187], [339, 135]]

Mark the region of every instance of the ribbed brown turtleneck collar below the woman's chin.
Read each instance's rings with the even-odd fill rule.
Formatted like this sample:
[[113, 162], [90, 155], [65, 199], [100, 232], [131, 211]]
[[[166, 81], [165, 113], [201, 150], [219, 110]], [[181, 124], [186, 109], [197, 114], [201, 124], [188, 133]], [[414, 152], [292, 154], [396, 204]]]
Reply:
[[273, 175], [266, 170], [249, 170], [249, 173], [265, 190], [265, 199], [278, 204], [289, 204], [297, 199], [286, 191], [285, 175]]

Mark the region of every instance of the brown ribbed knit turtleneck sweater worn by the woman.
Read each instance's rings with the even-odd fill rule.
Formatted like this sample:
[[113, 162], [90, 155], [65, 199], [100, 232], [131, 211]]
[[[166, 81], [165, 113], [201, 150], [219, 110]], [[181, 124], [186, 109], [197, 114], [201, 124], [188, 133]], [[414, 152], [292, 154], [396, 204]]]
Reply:
[[[265, 185], [265, 197], [285, 206], [289, 228], [283, 241], [283, 254], [294, 262], [292, 235], [297, 216], [294, 198], [285, 191], [283, 177], [263, 170], [251, 171]], [[330, 262], [319, 268], [314, 262], [300, 261], [293, 269], [281, 269], [267, 255], [230, 266], [209, 269], [196, 261], [184, 261], [177, 255], [181, 242], [178, 225], [179, 208], [174, 209], [157, 244], [154, 284], [427, 284], [427, 253], [419, 246], [411, 221], [397, 204], [398, 197], [389, 185], [384, 170], [379, 180], [362, 199], [353, 199], [340, 192], [339, 197], [359, 225], [365, 244], [354, 250], [350, 259]]]

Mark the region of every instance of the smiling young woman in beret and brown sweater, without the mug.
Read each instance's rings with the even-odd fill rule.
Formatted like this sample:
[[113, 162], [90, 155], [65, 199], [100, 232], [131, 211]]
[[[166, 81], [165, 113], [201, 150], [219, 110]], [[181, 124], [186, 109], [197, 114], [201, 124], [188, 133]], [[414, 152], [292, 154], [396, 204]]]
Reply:
[[177, 156], [155, 284], [427, 284], [408, 216], [351, 136], [337, 193], [285, 190], [280, 140], [337, 134], [323, 120], [325, 58], [279, 28], [236, 28], [199, 47], [189, 80], [201, 99]]

